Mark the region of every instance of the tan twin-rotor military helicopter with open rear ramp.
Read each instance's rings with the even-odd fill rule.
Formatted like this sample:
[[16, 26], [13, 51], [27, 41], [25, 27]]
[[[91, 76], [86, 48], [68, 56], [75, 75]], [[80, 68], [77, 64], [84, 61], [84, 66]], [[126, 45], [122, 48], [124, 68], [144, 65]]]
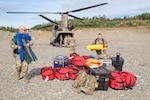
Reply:
[[[40, 17], [54, 23], [54, 29], [52, 32], [52, 35], [50, 36], [50, 45], [53, 46], [63, 46], [64, 44], [64, 38], [66, 36], [71, 36], [74, 35], [74, 33], [72, 32], [74, 26], [72, 25], [68, 25], [68, 16], [69, 17], [73, 17], [79, 20], [82, 20], [79, 17], [76, 17], [74, 15], [71, 15], [69, 13], [73, 13], [73, 12], [78, 12], [78, 11], [82, 11], [82, 10], [86, 10], [86, 9], [90, 9], [90, 8], [94, 8], [94, 7], [98, 7], [98, 6], [102, 6], [102, 5], [106, 5], [108, 3], [101, 3], [101, 4], [97, 4], [97, 5], [93, 5], [93, 6], [89, 6], [89, 7], [84, 7], [84, 8], [80, 8], [80, 9], [76, 9], [76, 10], [72, 10], [72, 11], [66, 11], [66, 12], [7, 12], [7, 13], [14, 13], [14, 14], [39, 14]], [[56, 23], [55, 21], [50, 20], [49, 18], [45, 17], [42, 14], [60, 14], [61, 15], [61, 24], [59, 25], [58, 23]]]

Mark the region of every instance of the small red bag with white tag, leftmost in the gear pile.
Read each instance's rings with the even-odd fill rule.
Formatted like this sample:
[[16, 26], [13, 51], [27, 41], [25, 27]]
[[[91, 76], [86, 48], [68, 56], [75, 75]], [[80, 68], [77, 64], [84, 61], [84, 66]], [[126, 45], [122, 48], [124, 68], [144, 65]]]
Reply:
[[52, 69], [52, 66], [45, 66], [41, 69], [41, 75], [44, 80], [53, 80], [55, 79], [55, 74]]

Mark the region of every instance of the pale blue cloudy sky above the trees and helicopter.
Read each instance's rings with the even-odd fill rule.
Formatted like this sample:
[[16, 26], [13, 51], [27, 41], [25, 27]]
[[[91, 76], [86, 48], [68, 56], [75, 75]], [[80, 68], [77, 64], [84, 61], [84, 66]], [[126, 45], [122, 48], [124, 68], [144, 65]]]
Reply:
[[[100, 3], [107, 5], [70, 13], [77, 17], [105, 15], [107, 18], [132, 17], [150, 13], [150, 0], [0, 0], [0, 26], [18, 28], [25, 25], [48, 23], [38, 14], [7, 14], [6, 12], [66, 12]], [[60, 15], [43, 14], [52, 20], [61, 20]]]

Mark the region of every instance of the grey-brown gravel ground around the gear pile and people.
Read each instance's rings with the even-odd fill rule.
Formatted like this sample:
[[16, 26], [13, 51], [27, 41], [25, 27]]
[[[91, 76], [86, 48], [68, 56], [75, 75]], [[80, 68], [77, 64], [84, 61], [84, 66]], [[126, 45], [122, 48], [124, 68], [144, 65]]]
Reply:
[[[38, 31], [39, 32], [39, 31]], [[43, 66], [53, 66], [57, 55], [69, 55], [69, 48], [49, 45], [49, 33], [34, 32], [33, 50], [38, 61], [29, 65], [30, 83], [16, 80], [15, 65], [9, 39], [13, 33], [0, 31], [0, 100], [150, 100], [150, 28], [89, 29], [75, 31], [76, 52], [95, 55], [86, 45], [93, 42], [99, 32], [108, 41], [107, 53], [124, 58], [123, 70], [136, 75], [137, 84], [132, 90], [95, 91], [93, 95], [78, 94], [73, 80], [44, 81], [40, 75]], [[39, 38], [41, 37], [41, 38]]]

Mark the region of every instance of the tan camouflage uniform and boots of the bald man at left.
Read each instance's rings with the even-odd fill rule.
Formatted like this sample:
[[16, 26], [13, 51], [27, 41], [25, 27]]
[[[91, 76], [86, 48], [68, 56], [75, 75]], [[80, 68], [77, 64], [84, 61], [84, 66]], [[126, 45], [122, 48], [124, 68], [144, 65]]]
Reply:
[[[30, 46], [33, 45], [32, 40], [29, 42], [29, 45]], [[16, 43], [14, 43], [13, 38], [10, 40], [10, 47], [13, 49], [13, 57], [15, 58], [16, 73], [17, 73], [16, 78], [19, 80], [20, 79], [20, 74], [22, 72], [23, 75], [24, 75], [24, 81], [26, 83], [29, 83], [29, 80], [27, 78], [27, 76], [28, 76], [28, 64], [25, 60], [24, 61], [20, 60], [20, 56], [19, 56], [19, 53], [18, 53], [18, 46], [17, 46]]]

